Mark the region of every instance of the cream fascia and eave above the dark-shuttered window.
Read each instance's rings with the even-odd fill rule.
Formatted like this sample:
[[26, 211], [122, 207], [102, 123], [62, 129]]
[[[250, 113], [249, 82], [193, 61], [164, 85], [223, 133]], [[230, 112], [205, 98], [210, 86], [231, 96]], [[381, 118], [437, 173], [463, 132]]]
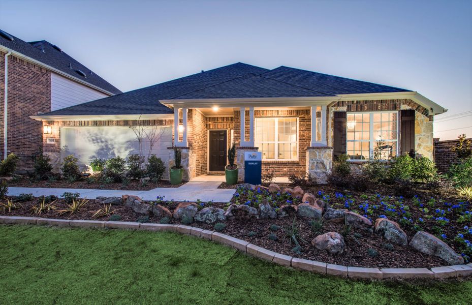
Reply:
[[365, 93], [365, 94], [342, 94], [338, 95], [340, 101], [371, 101], [371, 100], [395, 100], [411, 99], [429, 110], [430, 115], [440, 114], [448, 111], [444, 107], [425, 98], [416, 91], [387, 92], [387, 93]]

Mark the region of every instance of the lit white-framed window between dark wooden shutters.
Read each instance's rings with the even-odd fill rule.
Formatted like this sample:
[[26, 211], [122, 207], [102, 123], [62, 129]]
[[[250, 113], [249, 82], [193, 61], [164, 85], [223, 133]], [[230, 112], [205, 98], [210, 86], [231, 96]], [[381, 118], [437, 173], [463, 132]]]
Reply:
[[351, 160], [397, 155], [398, 112], [348, 113], [347, 154]]

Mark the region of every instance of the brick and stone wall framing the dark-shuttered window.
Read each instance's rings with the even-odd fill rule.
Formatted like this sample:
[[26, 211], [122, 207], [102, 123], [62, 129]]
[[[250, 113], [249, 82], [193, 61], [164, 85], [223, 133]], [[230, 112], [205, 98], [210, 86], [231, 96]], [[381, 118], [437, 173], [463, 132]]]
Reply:
[[410, 99], [373, 100], [373, 101], [339, 101], [329, 107], [328, 145], [333, 145], [334, 111], [362, 112], [414, 109], [415, 150], [418, 154], [433, 160], [433, 117], [429, 110]]

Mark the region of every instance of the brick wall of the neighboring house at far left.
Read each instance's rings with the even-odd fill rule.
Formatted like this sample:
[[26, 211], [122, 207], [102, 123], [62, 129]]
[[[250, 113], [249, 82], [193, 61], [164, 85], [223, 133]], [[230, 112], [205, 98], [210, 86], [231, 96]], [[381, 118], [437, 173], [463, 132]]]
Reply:
[[[0, 153], [4, 154], [5, 53], [0, 52]], [[42, 143], [42, 124], [29, 116], [51, 110], [51, 72], [13, 55], [8, 57], [8, 153], [17, 169], [33, 168]]]

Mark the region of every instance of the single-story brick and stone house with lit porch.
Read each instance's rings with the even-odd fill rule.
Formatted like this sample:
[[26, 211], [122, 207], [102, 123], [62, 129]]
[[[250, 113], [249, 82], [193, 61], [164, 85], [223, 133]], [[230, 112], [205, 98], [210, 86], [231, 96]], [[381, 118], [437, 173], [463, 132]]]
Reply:
[[186, 179], [224, 171], [234, 142], [240, 179], [243, 152], [259, 150], [263, 173], [323, 180], [333, 156], [363, 162], [379, 140], [384, 159], [412, 149], [432, 159], [433, 116], [445, 111], [411, 90], [237, 63], [32, 118], [52, 127], [43, 145], [56, 163], [70, 153], [83, 163], [125, 157], [136, 150], [129, 127], [142, 125], [160, 129], [152, 153], [169, 166], [169, 148], [182, 149]]

